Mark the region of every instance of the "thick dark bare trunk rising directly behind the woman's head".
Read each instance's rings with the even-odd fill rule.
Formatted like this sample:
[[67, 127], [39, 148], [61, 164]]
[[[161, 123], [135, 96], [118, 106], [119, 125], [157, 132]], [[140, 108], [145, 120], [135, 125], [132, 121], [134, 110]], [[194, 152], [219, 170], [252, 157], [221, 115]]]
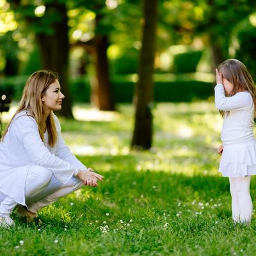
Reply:
[[60, 16], [60, 20], [51, 24], [53, 33], [36, 34], [40, 46], [40, 54], [43, 67], [57, 72], [60, 77], [61, 92], [65, 95], [60, 114], [73, 118], [70, 93], [68, 90], [68, 25], [67, 8], [65, 4], [46, 4], [45, 15], [51, 13]]

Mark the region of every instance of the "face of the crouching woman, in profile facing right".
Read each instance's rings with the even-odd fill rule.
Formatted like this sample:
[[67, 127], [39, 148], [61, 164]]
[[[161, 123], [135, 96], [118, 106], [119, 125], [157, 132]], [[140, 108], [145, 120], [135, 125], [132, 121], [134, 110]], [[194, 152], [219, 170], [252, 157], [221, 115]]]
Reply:
[[47, 90], [42, 95], [42, 102], [46, 113], [52, 110], [61, 110], [61, 103], [64, 95], [60, 91], [60, 83], [56, 80], [50, 84]]

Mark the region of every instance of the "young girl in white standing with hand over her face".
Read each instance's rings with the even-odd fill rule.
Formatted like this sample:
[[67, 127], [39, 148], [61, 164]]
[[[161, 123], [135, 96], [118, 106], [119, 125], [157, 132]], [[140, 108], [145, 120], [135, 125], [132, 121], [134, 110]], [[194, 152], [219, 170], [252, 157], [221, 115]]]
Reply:
[[234, 222], [250, 223], [250, 180], [256, 174], [255, 86], [244, 64], [234, 59], [224, 61], [216, 69], [216, 82], [215, 105], [223, 116], [219, 171], [230, 182]]

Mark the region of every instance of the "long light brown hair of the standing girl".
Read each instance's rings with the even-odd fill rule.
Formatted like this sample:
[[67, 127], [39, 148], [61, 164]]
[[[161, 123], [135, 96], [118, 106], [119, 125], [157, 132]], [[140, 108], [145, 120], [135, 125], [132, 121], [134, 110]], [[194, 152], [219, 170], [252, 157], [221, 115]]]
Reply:
[[[250, 92], [256, 111], [256, 89], [252, 76], [245, 65], [239, 60], [228, 59], [218, 66], [218, 71], [222, 74], [223, 78], [234, 85], [229, 96], [234, 96], [237, 92]], [[220, 112], [222, 116], [225, 114], [225, 111]]]

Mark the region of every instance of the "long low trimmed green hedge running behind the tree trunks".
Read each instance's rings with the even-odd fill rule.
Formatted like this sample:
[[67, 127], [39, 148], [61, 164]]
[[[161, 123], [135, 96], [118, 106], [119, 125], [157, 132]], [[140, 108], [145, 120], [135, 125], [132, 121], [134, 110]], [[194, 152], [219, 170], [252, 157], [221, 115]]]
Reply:
[[[13, 99], [20, 100], [26, 76], [0, 79], [0, 88], [14, 88]], [[115, 102], [132, 102], [136, 75], [112, 77]], [[208, 99], [213, 95], [211, 79], [196, 79], [195, 74], [175, 76], [156, 74], [154, 79], [154, 100], [156, 102], [190, 102], [195, 99]], [[1, 89], [0, 89], [1, 92]], [[73, 102], [90, 102], [90, 81], [79, 77], [70, 81], [70, 96]]]

